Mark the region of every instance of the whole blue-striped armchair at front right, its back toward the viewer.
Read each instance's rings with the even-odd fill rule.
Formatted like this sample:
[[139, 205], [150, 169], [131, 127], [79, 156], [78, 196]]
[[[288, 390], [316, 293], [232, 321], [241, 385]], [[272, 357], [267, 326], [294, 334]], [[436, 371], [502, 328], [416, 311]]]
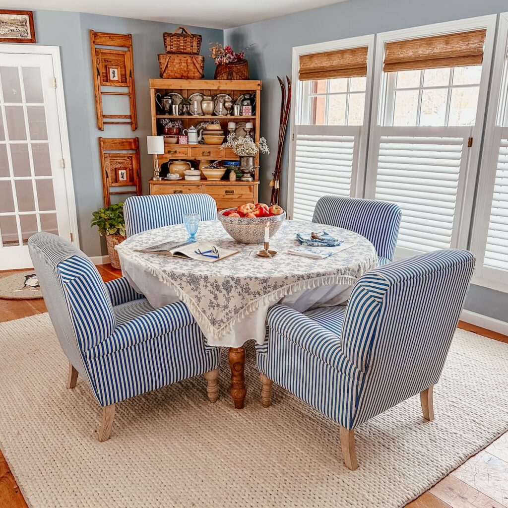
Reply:
[[347, 306], [272, 307], [268, 341], [257, 346], [262, 404], [275, 383], [337, 422], [350, 469], [360, 424], [418, 393], [433, 420], [432, 389], [473, 268], [470, 252], [440, 250], [367, 272]]

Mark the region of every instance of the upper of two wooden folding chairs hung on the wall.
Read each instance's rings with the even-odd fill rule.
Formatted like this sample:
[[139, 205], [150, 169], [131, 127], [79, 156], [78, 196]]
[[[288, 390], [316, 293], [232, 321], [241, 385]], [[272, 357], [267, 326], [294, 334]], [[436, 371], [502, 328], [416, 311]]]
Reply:
[[[93, 87], [96, 96], [97, 128], [104, 131], [104, 125], [131, 125], [138, 128], [136, 113], [136, 93], [134, 90], [134, 60], [132, 55], [131, 34], [105, 34], [90, 30], [92, 50]], [[98, 48], [97, 46], [108, 46]], [[110, 49], [112, 47], [122, 49]], [[112, 91], [103, 87], [118, 86], [122, 91]], [[125, 91], [128, 89], [129, 91]], [[130, 114], [105, 115], [103, 112], [103, 96], [120, 96], [129, 98]]]

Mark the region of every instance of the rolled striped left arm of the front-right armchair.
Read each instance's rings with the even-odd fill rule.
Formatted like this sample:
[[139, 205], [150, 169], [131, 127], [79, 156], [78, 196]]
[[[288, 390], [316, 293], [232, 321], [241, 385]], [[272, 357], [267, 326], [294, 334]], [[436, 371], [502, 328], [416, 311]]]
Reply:
[[273, 332], [294, 342], [331, 367], [344, 373], [349, 371], [350, 362], [342, 354], [340, 337], [305, 314], [285, 305], [275, 305], [268, 312], [267, 324]]

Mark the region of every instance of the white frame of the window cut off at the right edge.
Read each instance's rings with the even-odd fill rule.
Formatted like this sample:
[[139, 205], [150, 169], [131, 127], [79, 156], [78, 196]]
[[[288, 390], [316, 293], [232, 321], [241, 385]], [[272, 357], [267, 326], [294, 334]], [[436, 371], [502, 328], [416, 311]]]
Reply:
[[501, 92], [508, 91], [508, 12], [500, 13], [494, 49], [489, 104], [485, 123], [482, 160], [478, 173], [478, 188], [473, 210], [470, 249], [477, 257], [471, 282], [508, 293], [508, 272], [484, 266], [492, 195], [496, 175], [499, 144], [496, 131], [508, 130], [508, 93], [500, 105]]

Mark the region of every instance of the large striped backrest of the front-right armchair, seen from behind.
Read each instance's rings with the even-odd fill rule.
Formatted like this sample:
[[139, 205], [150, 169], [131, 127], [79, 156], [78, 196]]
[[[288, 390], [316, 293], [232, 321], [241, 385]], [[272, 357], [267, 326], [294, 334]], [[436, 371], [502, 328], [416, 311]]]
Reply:
[[362, 276], [347, 303], [342, 352], [363, 372], [351, 426], [437, 383], [474, 269], [438, 250]]

